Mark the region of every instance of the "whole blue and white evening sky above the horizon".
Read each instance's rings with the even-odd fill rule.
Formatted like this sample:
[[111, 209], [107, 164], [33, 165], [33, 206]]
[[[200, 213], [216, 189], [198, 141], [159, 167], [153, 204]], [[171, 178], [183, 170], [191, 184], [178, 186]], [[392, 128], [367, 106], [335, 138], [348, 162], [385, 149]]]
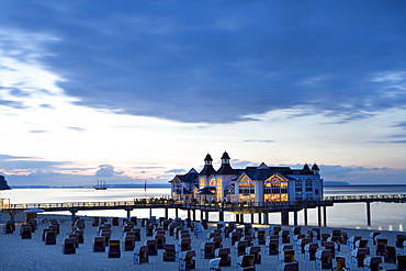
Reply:
[[406, 183], [404, 1], [0, 0], [10, 185], [317, 162]]

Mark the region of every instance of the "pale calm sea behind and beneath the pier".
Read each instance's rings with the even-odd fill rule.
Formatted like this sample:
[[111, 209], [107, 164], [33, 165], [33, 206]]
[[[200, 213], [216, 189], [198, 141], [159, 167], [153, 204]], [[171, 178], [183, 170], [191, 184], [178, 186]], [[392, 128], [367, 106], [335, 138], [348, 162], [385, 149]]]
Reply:
[[[406, 185], [337, 185], [325, 187], [325, 196], [339, 195], [394, 195], [406, 194]], [[170, 188], [109, 188], [108, 190], [94, 190], [93, 188], [64, 188], [64, 189], [12, 189], [0, 191], [0, 199], [10, 199], [11, 204], [23, 203], [68, 203], [68, 202], [113, 202], [133, 201], [134, 199], [170, 197]], [[150, 213], [151, 212], [151, 213]], [[53, 214], [66, 214], [58, 212]], [[169, 216], [176, 217], [174, 210], [169, 210]], [[127, 213], [123, 210], [114, 211], [80, 211], [79, 216], [119, 216], [125, 217]], [[150, 215], [165, 216], [165, 210], [134, 210], [132, 216], [149, 217]], [[185, 211], [179, 211], [178, 215], [187, 217]], [[8, 216], [7, 214], [2, 215]], [[196, 219], [200, 219], [200, 212], [196, 212]], [[210, 213], [210, 221], [218, 221], [218, 214]], [[304, 225], [303, 211], [298, 212], [298, 225]], [[4, 219], [4, 218], [3, 218]], [[225, 221], [235, 221], [232, 213], [224, 214]], [[251, 215], [244, 217], [245, 222], [251, 222]], [[263, 221], [263, 218], [262, 218]], [[258, 223], [258, 214], [253, 216], [253, 223]], [[293, 223], [293, 214], [290, 214], [290, 222]], [[271, 213], [270, 224], [280, 224], [281, 215]], [[317, 208], [308, 210], [307, 225], [318, 226]], [[404, 232], [406, 227], [406, 203], [371, 203], [371, 226], [366, 223], [365, 203], [336, 203], [327, 207], [328, 227], [347, 227], [359, 229], [377, 229]]]

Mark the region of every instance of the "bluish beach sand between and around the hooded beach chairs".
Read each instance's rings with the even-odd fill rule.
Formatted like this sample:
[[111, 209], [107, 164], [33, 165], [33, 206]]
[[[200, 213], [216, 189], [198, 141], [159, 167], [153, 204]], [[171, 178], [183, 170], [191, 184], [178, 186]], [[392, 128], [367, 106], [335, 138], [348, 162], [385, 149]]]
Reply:
[[[40, 218], [57, 218], [60, 222], [60, 234], [57, 237], [57, 245], [46, 246], [42, 241], [43, 229], [48, 226], [47, 222], [38, 224], [37, 230], [33, 233], [32, 239], [21, 239], [20, 228], [21, 224], [18, 223], [16, 230], [13, 234], [5, 235], [1, 233], [0, 235], [0, 270], [11, 271], [11, 270], [145, 270], [145, 271], [171, 271], [179, 270], [178, 262], [163, 262], [162, 253], [163, 250], [159, 250], [158, 256], [150, 256], [149, 262], [144, 264], [134, 264], [133, 251], [121, 251], [121, 258], [108, 258], [106, 252], [92, 252], [93, 238], [97, 236], [98, 227], [92, 227], [92, 217], [81, 217], [86, 221], [84, 228], [84, 244], [80, 244], [79, 248], [76, 250], [76, 255], [64, 255], [63, 253], [63, 242], [67, 234], [71, 232], [70, 216], [64, 215], [53, 215], [53, 214], [38, 214]], [[4, 217], [3, 217], [4, 218]], [[122, 218], [120, 219], [120, 225], [122, 225]], [[2, 225], [1, 225], [2, 226]], [[140, 223], [136, 227], [142, 228], [142, 241], [137, 241], [136, 246], [144, 245], [145, 240], [153, 239], [153, 237], [146, 237], [145, 227], [140, 227]], [[267, 235], [269, 226], [253, 225], [253, 227], [263, 227], [267, 229]], [[283, 226], [283, 229], [289, 229], [292, 226]], [[307, 229], [315, 228], [315, 226], [301, 226], [302, 233], [306, 233]], [[201, 271], [208, 270], [210, 259], [200, 259], [200, 248], [201, 244], [206, 241], [207, 234], [215, 228], [215, 224], [210, 224], [208, 229], [205, 229], [202, 239], [198, 239], [191, 234], [192, 238], [192, 249], [196, 251], [196, 269]], [[331, 234], [332, 229], [338, 228], [324, 228], [320, 227], [322, 233]], [[359, 235], [368, 239], [372, 230], [365, 229], [349, 229], [340, 228], [350, 235]], [[376, 232], [376, 230], [373, 230]], [[381, 230], [382, 238], [388, 239], [390, 246], [395, 246], [396, 235], [405, 234], [398, 232], [385, 232]], [[112, 238], [122, 240], [123, 227], [112, 226]], [[167, 244], [178, 244], [178, 240], [167, 234]], [[292, 241], [291, 241], [292, 242]], [[255, 246], [257, 242], [253, 241]], [[223, 271], [235, 270], [237, 257], [234, 252], [234, 247], [230, 246], [229, 238], [223, 239], [224, 247], [232, 248], [232, 267], [222, 268]], [[266, 255], [264, 245], [261, 247], [262, 262], [256, 264], [256, 270], [278, 270], [278, 266], [281, 263], [278, 261], [278, 256]], [[370, 245], [371, 255], [375, 253], [374, 246]], [[341, 251], [339, 255], [346, 256], [347, 260], [350, 260], [349, 246], [341, 245]], [[304, 255], [295, 252], [295, 260], [298, 261], [300, 270], [316, 270], [314, 261], [306, 261]], [[382, 263], [383, 269], [396, 268], [395, 264]], [[351, 270], [362, 270], [362, 269], [351, 269]]]

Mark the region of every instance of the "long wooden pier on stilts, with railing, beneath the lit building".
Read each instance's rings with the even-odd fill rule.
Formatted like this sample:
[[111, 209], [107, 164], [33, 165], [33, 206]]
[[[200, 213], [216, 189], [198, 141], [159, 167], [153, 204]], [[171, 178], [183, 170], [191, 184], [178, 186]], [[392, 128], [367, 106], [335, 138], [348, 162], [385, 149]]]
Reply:
[[[297, 212], [304, 212], [304, 225], [307, 225], [307, 210], [318, 208], [318, 224], [322, 226], [322, 217], [324, 226], [327, 226], [327, 206], [341, 203], [365, 203], [366, 204], [366, 223], [371, 225], [371, 202], [391, 202], [406, 203], [406, 194], [390, 194], [390, 195], [343, 195], [343, 196], [326, 196], [323, 201], [294, 201], [294, 202], [270, 202], [270, 203], [184, 203], [173, 200], [146, 200], [135, 199], [134, 201], [119, 202], [66, 202], [66, 203], [27, 203], [27, 204], [7, 204], [1, 206], [2, 213], [8, 213], [11, 218], [15, 214], [22, 213], [30, 208], [41, 208], [44, 212], [61, 212], [68, 211], [72, 216], [79, 211], [95, 211], [95, 210], [125, 210], [127, 216], [129, 212], [136, 208], [149, 208], [150, 214], [154, 208], [165, 208], [166, 218], [168, 210], [176, 211], [176, 216], [179, 210], [188, 212], [188, 217], [196, 221], [196, 212], [201, 212], [200, 217], [208, 219], [210, 212], [218, 212], [218, 219], [224, 219], [224, 212], [236, 215], [237, 223], [244, 223], [244, 214], [258, 214], [260, 224], [269, 224], [269, 213], [281, 213], [281, 222], [283, 225], [289, 225], [289, 213], [293, 213], [293, 225], [297, 225]], [[323, 215], [322, 215], [323, 208]], [[263, 216], [263, 221], [262, 217]]]

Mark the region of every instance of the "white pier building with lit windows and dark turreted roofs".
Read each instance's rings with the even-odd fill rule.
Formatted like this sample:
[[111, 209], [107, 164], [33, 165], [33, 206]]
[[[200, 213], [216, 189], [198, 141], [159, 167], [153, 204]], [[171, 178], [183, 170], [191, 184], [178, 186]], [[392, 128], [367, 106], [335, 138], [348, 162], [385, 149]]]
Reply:
[[222, 166], [215, 170], [207, 154], [204, 167], [198, 173], [191, 169], [171, 181], [172, 199], [184, 202], [250, 202], [274, 203], [292, 201], [319, 201], [323, 199], [323, 179], [315, 163], [312, 169], [290, 167], [259, 167], [233, 169], [227, 153]]

